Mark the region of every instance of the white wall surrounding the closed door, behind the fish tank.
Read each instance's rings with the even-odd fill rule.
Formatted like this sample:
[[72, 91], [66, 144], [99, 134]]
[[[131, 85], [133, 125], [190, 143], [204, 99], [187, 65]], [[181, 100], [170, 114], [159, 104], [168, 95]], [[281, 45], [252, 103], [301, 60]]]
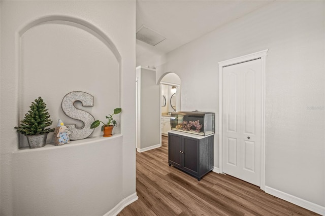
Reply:
[[[168, 53], [157, 77], [180, 77], [182, 110], [217, 116], [218, 62], [269, 49], [266, 186], [325, 214], [324, 14], [324, 2], [271, 3]], [[218, 134], [214, 142], [218, 167]]]

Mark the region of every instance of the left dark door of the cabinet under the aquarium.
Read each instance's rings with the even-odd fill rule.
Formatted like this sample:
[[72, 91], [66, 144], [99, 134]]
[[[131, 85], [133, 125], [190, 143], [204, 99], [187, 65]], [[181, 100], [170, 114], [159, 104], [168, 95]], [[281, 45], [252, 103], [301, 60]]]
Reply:
[[168, 134], [168, 163], [181, 168], [182, 138], [177, 134]]

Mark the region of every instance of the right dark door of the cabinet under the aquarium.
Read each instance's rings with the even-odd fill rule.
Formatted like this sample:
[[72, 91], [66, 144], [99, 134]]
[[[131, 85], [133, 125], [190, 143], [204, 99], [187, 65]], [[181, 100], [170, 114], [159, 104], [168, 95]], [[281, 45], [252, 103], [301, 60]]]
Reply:
[[198, 175], [199, 140], [183, 136], [183, 169]]

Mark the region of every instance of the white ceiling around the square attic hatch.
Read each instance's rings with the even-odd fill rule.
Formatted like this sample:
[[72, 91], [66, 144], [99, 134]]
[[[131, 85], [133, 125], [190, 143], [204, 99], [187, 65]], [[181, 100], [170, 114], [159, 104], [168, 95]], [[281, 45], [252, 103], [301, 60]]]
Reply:
[[137, 0], [137, 30], [145, 25], [166, 38], [155, 46], [137, 40], [137, 65], [154, 66], [154, 58], [272, 2]]

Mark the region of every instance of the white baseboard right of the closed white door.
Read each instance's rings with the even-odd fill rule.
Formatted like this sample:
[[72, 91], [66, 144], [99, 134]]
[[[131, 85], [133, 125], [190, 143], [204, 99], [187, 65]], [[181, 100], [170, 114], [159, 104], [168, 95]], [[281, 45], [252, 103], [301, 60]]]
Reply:
[[307, 200], [301, 199], [299, 197], [295, 197], [293, 195], [290, 195], [290, 194], [284, 193], [282, 191], [270, 188], [268, 186], [265, 186], [265, 193], [271, 194], [271, 195], [276, 196], [276, 197], [283, 199], [285, 201], [294, 203], [300, 207], [306, 208], [306, 209], [316, 212], [320, 215], [325, 215], [325, 207], [317, 205], [312, 202], [309, 202]]

